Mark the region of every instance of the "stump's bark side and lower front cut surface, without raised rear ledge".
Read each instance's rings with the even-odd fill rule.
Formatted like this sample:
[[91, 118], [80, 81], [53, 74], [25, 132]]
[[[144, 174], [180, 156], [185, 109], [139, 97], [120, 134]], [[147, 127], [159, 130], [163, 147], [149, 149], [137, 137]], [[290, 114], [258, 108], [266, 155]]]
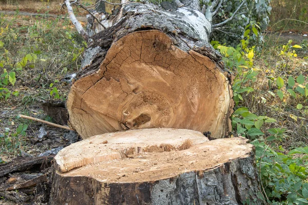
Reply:
[[181, 151], [143, 152], [64, 173], [55, 170], [51, 204], [192, 205], [252, 201], [257, 199], [258, 178], [254, 147], [247, 141], [243, 137], [215, 139]]

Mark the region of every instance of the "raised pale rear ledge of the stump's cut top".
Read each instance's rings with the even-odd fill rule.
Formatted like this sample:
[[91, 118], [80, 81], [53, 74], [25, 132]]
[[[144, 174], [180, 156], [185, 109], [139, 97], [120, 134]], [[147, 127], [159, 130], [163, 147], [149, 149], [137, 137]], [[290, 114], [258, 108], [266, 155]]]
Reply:
[[91, 163], [133, 158], [148, 152], [185, 150], [208, 141], [202, 133], [184, 129], [156, 128], [105, 133], [76, 142], [55, 157], [56, 170], [67, 172]]

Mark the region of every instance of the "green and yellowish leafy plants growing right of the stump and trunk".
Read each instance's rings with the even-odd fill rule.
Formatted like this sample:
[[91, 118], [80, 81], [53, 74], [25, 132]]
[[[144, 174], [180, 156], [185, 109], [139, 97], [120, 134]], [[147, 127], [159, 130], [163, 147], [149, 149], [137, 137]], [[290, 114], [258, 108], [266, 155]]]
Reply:
[[[283, 127], [264, 129], [266, 124], [266, 127], [271, 127], [268, 125], [274, 124], [277, 120], [267, 116], [258, 116], [249, 111], [256, 98], [264, 104], [266, 99], [256, 95], [259, 92], [258, 90], [256, 92], [258, 78], [264, 71], [258, 69], [254, 62], [254, 57], [259, 53], [255, 47], [249, 47], [251, 35], [258, 34], [248, 28], [246, 28], [244, 39], [236, 48], [211, 42], [214, 48], [222, 53], [228, 69], [235, 73], [233, 91], [236, 110], [232, 116], [234, 135], [251, 139], [251, 143], [256, 147], [256, 163], [261, 182], [259, 200], [265, 204], [308, 204], [308, 147], [296, 148], [290, 152], [284, 150], [279, 144], [288, 137], [286, 129]], [[291, 64], [293, 58], [297, 56], [294, 49], [300, 48], [298, 45], [292, 46], [291, 43], [284, 45], [278, 54], [279, 58], [282, 58], [282, 69], [288, 67], [288, 64]], [[300, 102], [304, 104], [297, 104], [297, 109], [306, 109], [308, 86], [306, 87], [307, 84], [302, 74], [297, 77], [289, 76], [287, 83], [283, 79], [284, 76], [276, 78], [267, 76], [267, 78], [269, 88], [276, 90], [276, 94], [268, 91], [273, 97], [277, 95], [283, 99], [286, 95], [290, 95], [300, 99]], [[243, 107], [242, 104], [246, 101], [249, 101], [249, 106]], [[243, 203], [254, 204], [253, 201]]]

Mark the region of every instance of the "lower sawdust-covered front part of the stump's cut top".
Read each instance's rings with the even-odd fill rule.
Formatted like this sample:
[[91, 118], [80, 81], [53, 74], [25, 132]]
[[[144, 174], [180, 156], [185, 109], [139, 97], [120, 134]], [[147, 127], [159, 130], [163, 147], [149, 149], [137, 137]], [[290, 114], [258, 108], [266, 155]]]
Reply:
[[[185, 172], [212, 170], [226, 162], [252, 156], [253, 145], [247, 144], [247, 141], [243, 137], [206, 140], [182, 151], [143, 152], [129, 158], [121, 157], [119, 154], [119, 158], [103, 158], [91, 163], [88, 163], [88, 158], [84, 158], [80, 160], [82, 163], [85, 162], [84, 165], [79, 163], [78, 167], [70, 167], [69, 171], [62, 173], [59, 162], [63, 161], [56, 159], [55, 167], [58, 168], [57, 174], [65, 177], [87, 176], [108, 183], [157, 181]], [[97, 150], [100, 149], [92, 152], [95, 153]]]

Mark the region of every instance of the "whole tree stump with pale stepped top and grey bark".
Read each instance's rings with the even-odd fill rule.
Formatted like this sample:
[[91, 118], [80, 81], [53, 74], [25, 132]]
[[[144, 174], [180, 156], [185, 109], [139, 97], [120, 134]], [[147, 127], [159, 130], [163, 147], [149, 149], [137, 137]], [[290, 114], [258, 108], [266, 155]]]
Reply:
[[[256, 198], [242, 137], [145, 129], [90, 137], [55, 157], [51, 204], [242, 204]], [[257, 202], [258, 204], [258, 202]]]

